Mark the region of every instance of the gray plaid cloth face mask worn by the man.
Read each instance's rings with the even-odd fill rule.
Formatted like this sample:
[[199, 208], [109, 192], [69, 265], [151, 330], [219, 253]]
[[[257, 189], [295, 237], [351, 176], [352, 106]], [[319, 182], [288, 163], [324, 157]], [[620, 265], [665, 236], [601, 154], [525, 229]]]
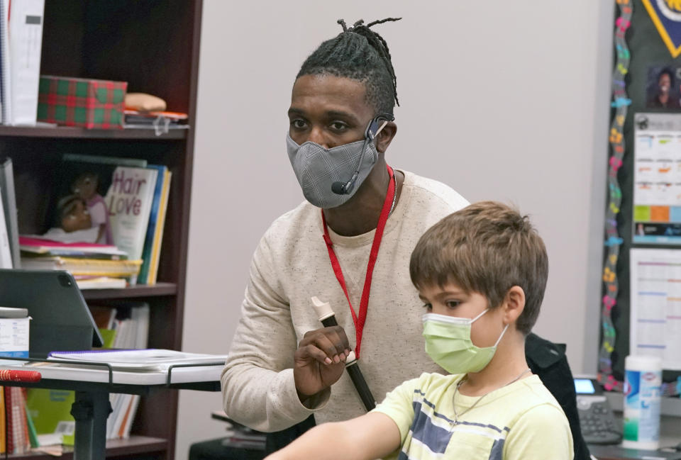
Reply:
[[[341, 206], [352, 198], [378, 159], [376, 146], [368, 138], [325, 149], [311, 141], [298, 145], [287, 133], [286, 150], [305, 199], [326, 209]], [[334, 193], [331, 190], [333, 183], [346, 184], [355, 174], [362, 156], [353, 188], [348, 193]]]

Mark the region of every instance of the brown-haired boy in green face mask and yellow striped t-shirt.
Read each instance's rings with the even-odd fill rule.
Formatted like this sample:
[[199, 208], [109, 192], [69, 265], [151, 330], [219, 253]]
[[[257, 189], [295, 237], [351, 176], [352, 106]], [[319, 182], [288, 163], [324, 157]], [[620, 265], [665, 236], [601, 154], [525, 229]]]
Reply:
[[548, 275], [528, 218], [490, 201], [467, 206], [423, 234], [409, 269], [426, 352], [450, 375], [406, 381], [371, 413], [319, 425], [268, 459], [376, 459], [398, 448], [399, 459], [572, 459], [563, 410], [525, 360]]

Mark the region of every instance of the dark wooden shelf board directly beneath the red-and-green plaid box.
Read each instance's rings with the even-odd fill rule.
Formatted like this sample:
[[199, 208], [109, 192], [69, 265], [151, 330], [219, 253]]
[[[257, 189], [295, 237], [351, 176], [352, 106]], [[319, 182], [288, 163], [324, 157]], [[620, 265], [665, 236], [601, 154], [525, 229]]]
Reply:
[[153, 129], [88, 130], [71, 126], [57, 126], [57, 128], [0, 126], [0, 136], [14, 138], [174, 140], [186, 139], [187, 131], [189, 130], [175, 129], [167, 134], [156, 135]]

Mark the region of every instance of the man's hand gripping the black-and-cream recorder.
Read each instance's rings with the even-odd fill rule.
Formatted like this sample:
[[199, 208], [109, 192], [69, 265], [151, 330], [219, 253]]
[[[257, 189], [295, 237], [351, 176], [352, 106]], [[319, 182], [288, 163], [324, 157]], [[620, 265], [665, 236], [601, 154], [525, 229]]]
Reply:
[[341, 326], [305, 333], [294, 356], [293, 377], [301, 401], [333, 385], [343, 375], [350, 342]]

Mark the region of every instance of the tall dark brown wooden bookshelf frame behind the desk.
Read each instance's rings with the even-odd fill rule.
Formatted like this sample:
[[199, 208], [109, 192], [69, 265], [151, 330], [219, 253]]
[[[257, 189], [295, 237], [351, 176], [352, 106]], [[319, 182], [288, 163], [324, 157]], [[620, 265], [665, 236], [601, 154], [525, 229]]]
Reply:
[[[142, 157], [165, 164], [172, 183], [158, 284], [83, 291], [106, 305], [149, 303], [149, 347], [181, 349], [192, 159], [196, 123], [201, 0], [45, 0], [41, 74], [128, 82], [128, 91], [165, 99], [189, 114], [189, 130], [85, 130], [0, 126], [0, 157], [13, 162], [19, 230], [42, 233], [54, 171], [62, 154]], [[144, 396], [130, 439], [107, 443], [107, 459], [175, 456], [177, 391]], [[13, 458], [43, 458], [29, 454]], [[66, 458], [70, 458], [68, 455]]]

